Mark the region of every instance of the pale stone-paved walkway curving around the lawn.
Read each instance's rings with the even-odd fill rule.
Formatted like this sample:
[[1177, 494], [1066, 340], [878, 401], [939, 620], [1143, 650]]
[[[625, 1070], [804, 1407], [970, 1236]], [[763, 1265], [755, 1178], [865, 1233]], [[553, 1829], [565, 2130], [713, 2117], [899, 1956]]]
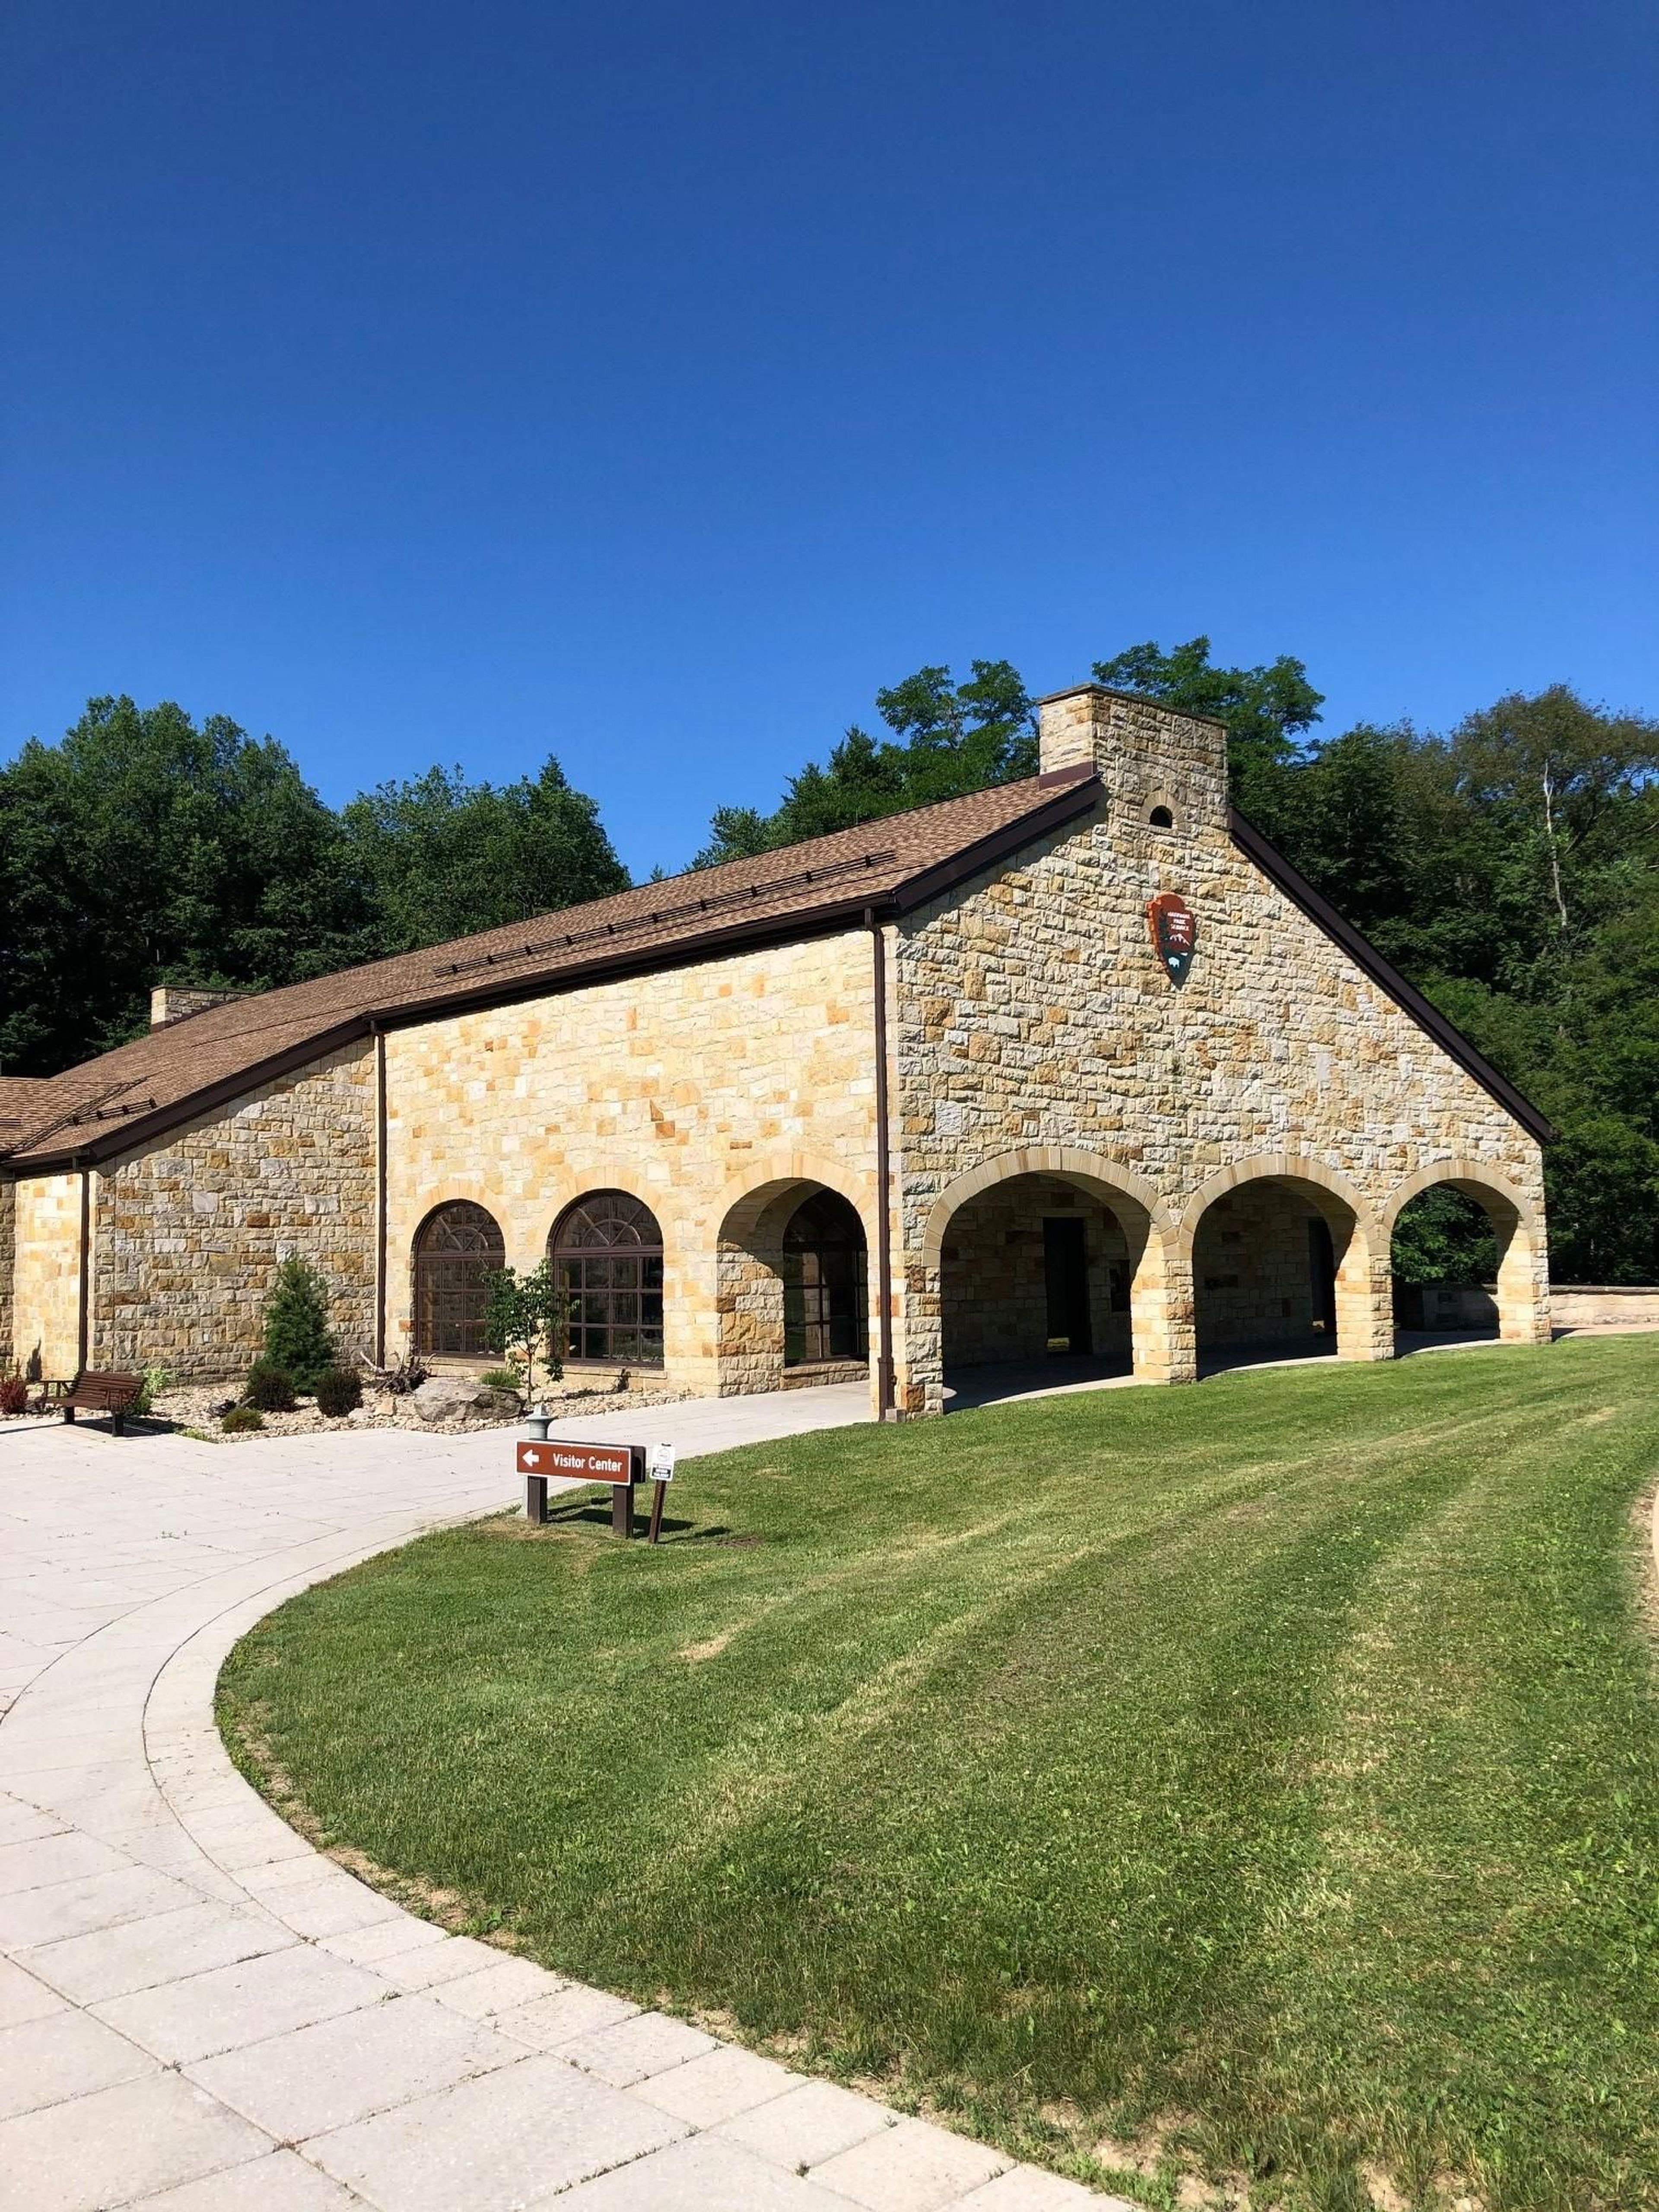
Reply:
[[[692, 1453], [865, 1416], [858, 1383], [560, 1433]], [[0, 2212], [1110, 2203], [445, 1936], [241, 1781], [212, 1725], [237, 1637], [515, 1500], [502, 1431], [0, 1427]]]

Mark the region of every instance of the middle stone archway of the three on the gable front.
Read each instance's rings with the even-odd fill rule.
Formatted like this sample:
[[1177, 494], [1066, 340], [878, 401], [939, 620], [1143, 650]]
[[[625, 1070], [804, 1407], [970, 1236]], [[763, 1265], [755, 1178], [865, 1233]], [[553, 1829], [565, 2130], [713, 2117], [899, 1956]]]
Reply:
[[1325, 1161], [1287, 1152], [1234, 1161], [1188, 1201], [1181, 1230], [1201, 1363], [1250, 1352], [1394, 1356], [1387, 1237]]

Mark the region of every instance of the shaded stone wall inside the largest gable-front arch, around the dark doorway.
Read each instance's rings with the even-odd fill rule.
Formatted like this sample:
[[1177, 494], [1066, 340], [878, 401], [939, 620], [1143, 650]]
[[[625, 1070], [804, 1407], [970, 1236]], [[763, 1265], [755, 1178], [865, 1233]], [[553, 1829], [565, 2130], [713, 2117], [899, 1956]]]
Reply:
[[945, 1234], [940, 1310], [951, 1367], [1040, 1360], [1048, 1349], [1044, 1219], [1084, 1223], [1091, 1345], [1128, 1352], [1128, 1245], [1099, 1199], [1060, 1177], [1026, 1175], [971, 1199]]

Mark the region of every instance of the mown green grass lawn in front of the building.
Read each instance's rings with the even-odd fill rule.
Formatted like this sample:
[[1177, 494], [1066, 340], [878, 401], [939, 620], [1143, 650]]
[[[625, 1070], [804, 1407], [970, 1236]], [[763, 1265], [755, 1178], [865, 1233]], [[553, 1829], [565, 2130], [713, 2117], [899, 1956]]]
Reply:
[[841, 1429], [356, 1568], [221, 1717], [549, 1966], [1148, 2203], [1659, 2205], [1657, 1473], [1641, 1336]]

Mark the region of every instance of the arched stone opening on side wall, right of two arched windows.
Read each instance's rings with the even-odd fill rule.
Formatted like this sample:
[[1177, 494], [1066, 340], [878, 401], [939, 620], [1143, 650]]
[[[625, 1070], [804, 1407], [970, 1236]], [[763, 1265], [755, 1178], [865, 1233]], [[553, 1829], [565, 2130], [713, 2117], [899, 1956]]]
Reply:
[[792, 1155], [761, 1177], [728, 1192], [719, 1223], [719, 1396], [867, 1376], [878, 1298], [867, 1208], [830, 1164]]

